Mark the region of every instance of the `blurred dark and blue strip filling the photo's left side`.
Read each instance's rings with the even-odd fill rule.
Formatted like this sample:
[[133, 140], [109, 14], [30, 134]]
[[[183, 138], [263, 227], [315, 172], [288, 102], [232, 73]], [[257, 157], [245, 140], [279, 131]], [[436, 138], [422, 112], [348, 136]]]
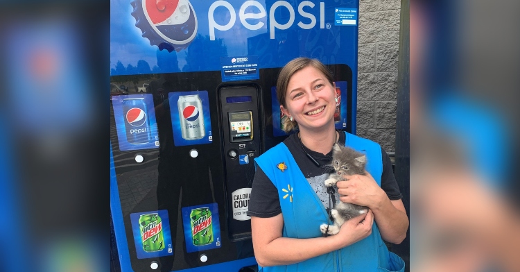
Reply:
[[108, 1], [1, 2], [1, 271], [108, 267], [109, 29]]

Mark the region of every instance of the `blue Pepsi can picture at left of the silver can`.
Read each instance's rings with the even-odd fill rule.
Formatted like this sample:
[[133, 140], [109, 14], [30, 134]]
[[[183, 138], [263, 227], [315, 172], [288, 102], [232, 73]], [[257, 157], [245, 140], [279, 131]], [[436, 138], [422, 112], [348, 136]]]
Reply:
[[148, 110], [144, 98], [123, 99], [126, 140], [130, 144], [148, 144], [151, 141]]

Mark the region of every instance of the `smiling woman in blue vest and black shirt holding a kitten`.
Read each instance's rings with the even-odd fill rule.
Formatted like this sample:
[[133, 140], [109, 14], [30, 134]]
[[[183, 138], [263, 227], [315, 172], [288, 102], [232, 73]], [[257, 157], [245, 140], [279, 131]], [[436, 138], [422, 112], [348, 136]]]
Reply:
[[[408, 229], [390, 159], [379, 144], [334, 128], [335, 87], [318, 60], [297, 58], [280, 71], [277, 98], [288, 117], [284, 129], [298, 133], [255, 160], [248, 214], [263, 271], [404, 270], [404, 262], [381, 240], [399, 244]], [[333, 144], [345, 141], [367, 153], [368, 173], [345, 176], [329, 195], [325, 166], [331, 164]], [[337, 235], [322, 237], [320, 225], [330, 223], [325, 207], [335, 199], [370, 210], [345, 222]]]

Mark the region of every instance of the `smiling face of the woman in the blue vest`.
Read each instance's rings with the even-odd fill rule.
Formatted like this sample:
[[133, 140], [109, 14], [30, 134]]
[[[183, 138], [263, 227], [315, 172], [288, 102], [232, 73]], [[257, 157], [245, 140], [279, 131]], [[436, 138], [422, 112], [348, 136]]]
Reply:
[[336, 111], [336, 86], [312, 66], [297, 71], [287, 85], [286, 108], [281, 111], [293, 117], [300, 130], [324, 128], [333, 124]]

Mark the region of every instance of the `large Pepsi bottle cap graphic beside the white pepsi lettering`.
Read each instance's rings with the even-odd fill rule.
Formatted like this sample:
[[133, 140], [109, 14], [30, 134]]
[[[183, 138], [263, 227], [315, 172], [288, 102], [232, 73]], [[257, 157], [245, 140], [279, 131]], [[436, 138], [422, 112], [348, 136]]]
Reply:
[[159, 50], [181, 51], [197, 35], [197, 15], [189, 0], [135, 0], [130, 4], [135, 26]]

